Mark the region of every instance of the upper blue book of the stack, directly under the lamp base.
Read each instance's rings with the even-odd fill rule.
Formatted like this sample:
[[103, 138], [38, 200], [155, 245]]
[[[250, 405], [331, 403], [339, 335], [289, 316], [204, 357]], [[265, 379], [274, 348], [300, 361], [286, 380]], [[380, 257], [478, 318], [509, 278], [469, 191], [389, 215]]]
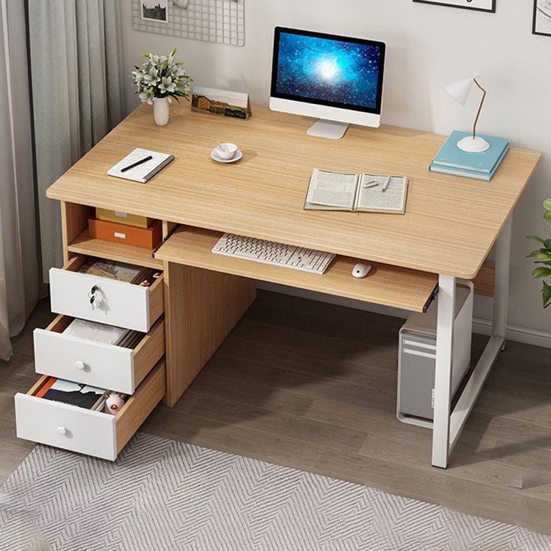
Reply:
[[459, 130], [454, 130], [446, 140], [446, 143], [442, 145], [439, 152], [436, 154], [433, 163], [437, 163], [444, 167], [475, 170], [490, 174], [499, 161], [499, 158], [503, 155], [503, 151], [509, 145], [509, 141], [506, 138], [496, 138], [495, 136], [478, 134], [478, 136], [484, 138], [490, 144], [489, 149], [481, 153], [469, 153], [459, 149], [459, 147], [457, 147], [457, 142], [461, 140], [461, 138], [471, 135], [471, 132], [459, 132]]

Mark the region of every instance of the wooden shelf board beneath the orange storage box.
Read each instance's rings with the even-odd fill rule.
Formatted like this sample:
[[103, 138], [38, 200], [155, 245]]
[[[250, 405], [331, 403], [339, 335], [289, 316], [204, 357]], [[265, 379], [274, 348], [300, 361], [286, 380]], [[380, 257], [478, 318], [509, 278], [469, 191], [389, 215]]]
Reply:
[[107, 258], [107, 260], [118, 260], [118, 262], [163, 269], [163, 261], [152, 258], [152, 251], [141, 247], [132, 247], [124, 243], [114, 243], [90, 237], [87, 228], [68, 245], [67, 249], [72, 253], [98, 256], [99, 258]]

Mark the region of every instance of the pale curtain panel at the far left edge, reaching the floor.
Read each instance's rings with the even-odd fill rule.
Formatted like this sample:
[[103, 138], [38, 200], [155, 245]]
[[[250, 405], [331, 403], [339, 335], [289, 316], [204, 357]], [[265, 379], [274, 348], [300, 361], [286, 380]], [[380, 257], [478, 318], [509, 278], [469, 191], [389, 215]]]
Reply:
[[37, 303], [39, 262], [34, 213], [25, 11], [0, 0], [0, 359]]

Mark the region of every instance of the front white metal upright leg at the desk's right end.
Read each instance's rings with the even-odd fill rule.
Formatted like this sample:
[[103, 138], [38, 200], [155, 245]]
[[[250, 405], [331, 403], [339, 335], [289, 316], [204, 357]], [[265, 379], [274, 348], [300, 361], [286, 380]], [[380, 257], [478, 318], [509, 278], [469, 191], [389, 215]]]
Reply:
[[441, 468], [448, 466], [448, 455], [450, 452], [454, 318], [455, 278], [451, 275], [440, 275], [436, 331], [433, 466]]

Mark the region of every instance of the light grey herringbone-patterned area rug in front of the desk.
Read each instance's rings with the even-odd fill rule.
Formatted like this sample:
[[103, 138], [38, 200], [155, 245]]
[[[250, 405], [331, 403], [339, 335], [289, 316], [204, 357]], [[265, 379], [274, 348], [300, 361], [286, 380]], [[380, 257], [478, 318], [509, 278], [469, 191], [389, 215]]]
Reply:
[[138, 433], [114, 463], [34, 448], [0, 488], [0, 549], [551, 551], [551, 537]]

